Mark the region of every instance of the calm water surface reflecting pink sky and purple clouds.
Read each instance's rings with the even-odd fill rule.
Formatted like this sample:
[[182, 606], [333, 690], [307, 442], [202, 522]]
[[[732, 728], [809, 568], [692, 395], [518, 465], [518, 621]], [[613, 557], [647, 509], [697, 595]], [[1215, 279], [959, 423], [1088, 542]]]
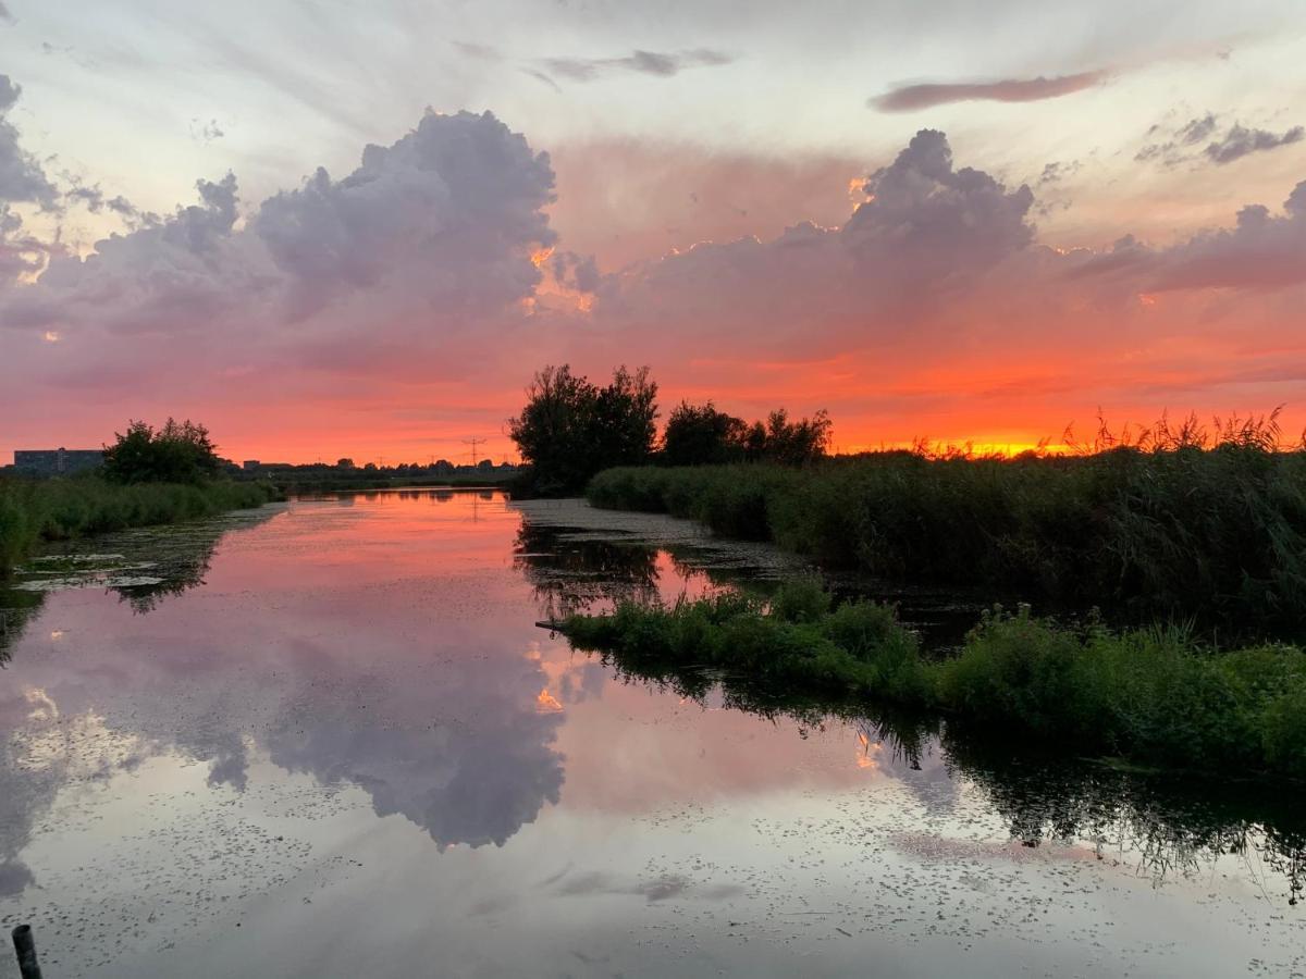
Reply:
[[741, 710], [535, 627], [793, 565], [447, 491], [34, 561], [0, 919], [50, 979], [1306, 974], [1296, 799]]

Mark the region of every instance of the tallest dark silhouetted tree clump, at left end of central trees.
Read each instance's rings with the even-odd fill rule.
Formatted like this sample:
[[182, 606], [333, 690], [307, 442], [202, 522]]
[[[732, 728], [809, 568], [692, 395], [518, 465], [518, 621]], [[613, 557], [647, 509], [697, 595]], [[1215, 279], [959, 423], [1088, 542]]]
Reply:
[[646, 367], [633, 373], [619, 367], [599, 388], [563, 364], [535, 375], [508, 431], [535, 492], [564, 493], [584, 488], [601, 469], [646, 462], [656, 418], [657, 384]]

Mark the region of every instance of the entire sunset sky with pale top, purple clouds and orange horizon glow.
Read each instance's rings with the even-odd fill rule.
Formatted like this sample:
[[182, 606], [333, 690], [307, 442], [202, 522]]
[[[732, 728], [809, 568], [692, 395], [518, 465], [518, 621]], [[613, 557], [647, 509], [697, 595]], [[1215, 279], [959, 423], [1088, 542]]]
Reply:
[[1301, 0], [0, 0], [0, 463], [511, 457], [563, 362], [845, 452], [1296, 436], [1303, 125]]

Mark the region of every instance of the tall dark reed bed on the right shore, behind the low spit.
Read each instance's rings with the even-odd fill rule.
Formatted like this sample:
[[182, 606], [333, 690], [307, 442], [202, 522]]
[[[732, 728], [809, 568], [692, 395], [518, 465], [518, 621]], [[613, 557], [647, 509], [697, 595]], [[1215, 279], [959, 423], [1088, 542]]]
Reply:
[[991, 586], [1136, 619], [1306, 625], [1306, 453], [1258, 444], [1077, 457], [908, 452], [599, 473], [597, 506], [665, 512], [833, 567]]

